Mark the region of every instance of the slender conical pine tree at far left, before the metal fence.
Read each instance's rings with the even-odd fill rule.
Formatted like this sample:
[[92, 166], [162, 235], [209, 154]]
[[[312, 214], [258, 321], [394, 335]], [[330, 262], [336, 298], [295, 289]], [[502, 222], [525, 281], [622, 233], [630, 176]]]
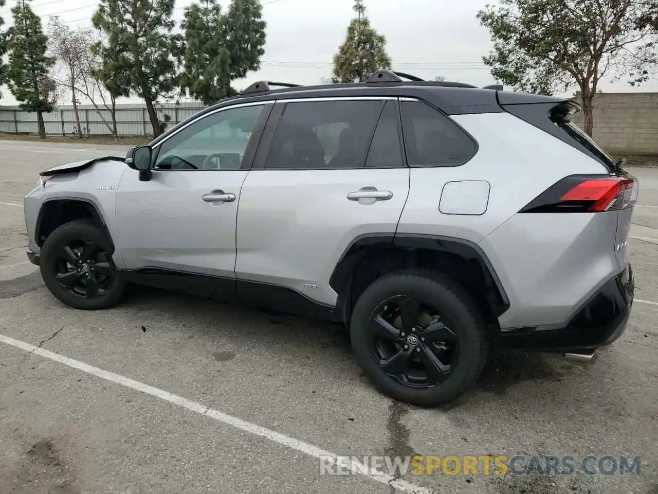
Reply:
[[48, 37], [41, 19], [34, 14], [30, 0], [18, 0], [11, 9], [14, 24], [7, 32], [7, 85], [21, 109], [36, 112], [39, 135], [45, 138], [43, 113], [54, 107], [55, 88], [48, 72], [55, 61], [46, 56]]

